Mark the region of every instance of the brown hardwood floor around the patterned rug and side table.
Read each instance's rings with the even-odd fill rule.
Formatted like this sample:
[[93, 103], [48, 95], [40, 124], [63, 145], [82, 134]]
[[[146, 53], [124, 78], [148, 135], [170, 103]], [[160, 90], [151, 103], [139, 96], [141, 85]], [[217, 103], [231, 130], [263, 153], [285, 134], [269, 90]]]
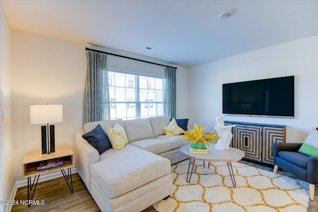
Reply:
[[[255, 163], [248, 160], [240, 160], [239, 162], [255, 166], [260, 169], [267, 171], [273, 171], [273, 166], [267, 166], [260, 163]], [[294, 175], [285, 172], [278, 171], [279, 174], [283, 174], [289, 177], [294, 177]], [[63, 177], [56, 178], [53, 180], [38, 183], [36, 187], [36, 192], [34, 194], [33, 200], [38, 200], [40, 203], [43, 200], [44, 205], [31, 205], [28, 208], [27, 205], [14, 205], [12, 206], [11, 212], [99, 212], [99, 208], [94, 202], [93, 198], [86, 189], [83, 181], [80, 179], [79, 174], [73, 174], [73, 188], [74, 193], [72, 194], [65, 183]], [[32, 195], [32, 194], [31, 194]], [[17, 189], [15, 199], [20, 202], [20, 200], [27, 200], [27, 186]], [[310, 201], [308, 212], [318, 211], [318, 185], [316, 185], [315, 191], [315, 201]], [[143, 212], [156, 212], [155, 209], [149, 207]]]

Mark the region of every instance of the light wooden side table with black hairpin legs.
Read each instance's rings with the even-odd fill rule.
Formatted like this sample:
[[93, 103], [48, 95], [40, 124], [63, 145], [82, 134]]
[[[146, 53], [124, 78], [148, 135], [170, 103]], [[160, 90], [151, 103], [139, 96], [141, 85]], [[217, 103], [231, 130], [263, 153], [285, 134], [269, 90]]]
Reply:
[[[56, 159], [56, 158], [61, 158], [63, 160], [62, 166], [37, 171], [36, 168], [38, 164], [40, 164], [41, 162], [45, 162], [47, 160]], [[55, 152], [52, 152], [51, 154], [42, 154], [42, 150], [34, 150], [34, 151], [26, 152], [22, 161], [22, 173], [23, 173], [23, 177], [28, 178], [28, 202], [30, 200], [29, 198], [30, 190], [32, 190], [34, 182], [36, 180], [33, 194], [31, 197], [31, 200], [33, 200], [33, 196], [39, 181], [40, 174], [44, 174], [44, 173], [48, 173], [48, 172], [52, 172], [56, 170], [61, 170], [63, 177], [67, 185], [69, 186], [71, 193], [73, 193], [73, 181], [72, 181], [72, 172], [71, 172], [72, 167], [74, 167], [74, 152], [70, 146], [57, 147], [55, 149]], [[64, 170], [66, 168], [68, 169], [68, 174], [66, 174]], [[32, 176], [34, 176], [34, 180], [31, 185]], [[68, 180], [71, 180], [71, 186]], [[28, 204], [28, 207], [30, 207], [30, 204]]]

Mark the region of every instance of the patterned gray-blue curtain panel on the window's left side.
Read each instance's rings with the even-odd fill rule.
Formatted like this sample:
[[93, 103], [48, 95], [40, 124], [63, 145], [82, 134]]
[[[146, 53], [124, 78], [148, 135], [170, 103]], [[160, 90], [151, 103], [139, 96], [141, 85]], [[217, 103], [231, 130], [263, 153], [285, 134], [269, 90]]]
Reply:
[[107, 55], [86, 51], [87, 73], [83, 100], [83, 125], [110, 118]]

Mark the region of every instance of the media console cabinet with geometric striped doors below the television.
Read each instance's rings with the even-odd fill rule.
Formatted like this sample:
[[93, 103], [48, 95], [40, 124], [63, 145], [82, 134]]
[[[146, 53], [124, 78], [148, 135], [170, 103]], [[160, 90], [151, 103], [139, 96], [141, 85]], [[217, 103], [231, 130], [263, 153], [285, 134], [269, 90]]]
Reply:
[[231, 147], [245, 152], [245, 159], [273, 164], [273, 143], [286, 142], [286, 126], [248, 122], [224, 121], [236, 125], [232, 129]]

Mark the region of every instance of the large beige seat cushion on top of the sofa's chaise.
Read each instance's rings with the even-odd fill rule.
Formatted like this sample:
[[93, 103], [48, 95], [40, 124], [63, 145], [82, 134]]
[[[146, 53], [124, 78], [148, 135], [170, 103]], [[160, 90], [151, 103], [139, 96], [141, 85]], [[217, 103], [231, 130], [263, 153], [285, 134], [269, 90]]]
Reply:
[[[170, 161], [127, 144], [108, 149], [90, 166], [91, 176], [108, 198], [115, 198], [170, 173]], [[107, 156], [106, 156], [107, 155]]]

